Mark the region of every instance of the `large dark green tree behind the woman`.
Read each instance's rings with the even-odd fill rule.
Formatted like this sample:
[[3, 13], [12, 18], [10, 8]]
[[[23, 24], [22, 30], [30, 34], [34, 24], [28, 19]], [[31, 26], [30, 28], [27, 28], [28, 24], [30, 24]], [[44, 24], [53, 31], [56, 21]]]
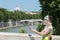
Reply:
[[60, 0], [39, 0], [42, 18], [49, 15], [54, 27], [54, 34], [60, 35]]

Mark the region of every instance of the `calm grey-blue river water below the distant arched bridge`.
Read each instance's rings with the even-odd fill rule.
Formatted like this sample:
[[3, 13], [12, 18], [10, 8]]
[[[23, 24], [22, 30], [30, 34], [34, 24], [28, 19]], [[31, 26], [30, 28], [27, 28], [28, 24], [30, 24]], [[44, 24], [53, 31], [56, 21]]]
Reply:
[[[24, 25], [24, 26], [19, 26], [19, 27], [6, 28], [6, 29], [0, 30], [0, 32], [20, 33], [21, 29], [24, 28], [24, 30], [26, 31], [26, 33], [35, 34], [34, 32], [32, 32], [32, 31], [29, 29], [29, 26], [30, 26], [30, 25]], [[38, 25], [33, 25], [33, 28], [34, 28], [34, 29], [37, 29], [37, 26], [38, 26]]]

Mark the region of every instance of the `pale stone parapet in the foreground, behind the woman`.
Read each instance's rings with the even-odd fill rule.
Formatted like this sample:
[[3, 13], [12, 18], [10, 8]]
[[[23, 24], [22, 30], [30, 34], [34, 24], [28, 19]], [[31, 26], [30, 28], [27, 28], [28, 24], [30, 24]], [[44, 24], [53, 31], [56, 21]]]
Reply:
[[[42, 36], [36, 34], [5, 33], [0, 32], [0, 40], [41, 40]], [[60, 40], [60, 36], [52, 35], [52, 40]]]

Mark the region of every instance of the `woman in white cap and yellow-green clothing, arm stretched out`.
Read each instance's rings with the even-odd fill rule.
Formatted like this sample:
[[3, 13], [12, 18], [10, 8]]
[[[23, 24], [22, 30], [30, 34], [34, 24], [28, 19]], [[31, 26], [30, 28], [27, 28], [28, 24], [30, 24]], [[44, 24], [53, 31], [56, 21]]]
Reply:
[[52, 32], [53, 32], [53, 27], [52, 27], [52, 24], [49, 20], [49, 16], [47, 15], [46, 17], [44, 17], [44, 21], [43, 21], [43, 24], [45, 25], [45, 28], [41, 31], [41, 32], [38, 32], [36, 31], [35, 29], [32, 28], [32, 26], [30, 26], [30, 29], [41, 35], [42, 36], [42, 40], [51, 40], [51, 35], [52, 35]]

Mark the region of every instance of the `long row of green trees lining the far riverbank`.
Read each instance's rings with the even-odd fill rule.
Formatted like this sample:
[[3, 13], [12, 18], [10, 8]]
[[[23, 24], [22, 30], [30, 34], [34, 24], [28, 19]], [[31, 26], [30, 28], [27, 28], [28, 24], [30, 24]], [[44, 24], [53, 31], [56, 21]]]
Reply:
[[0, 8], [0, 21], [7, 22], [9, 19], [14, 21], [22, 19], [39, 19], [40, 14], [25, 14], [22, 11], [8, 11], [5, 8]]

